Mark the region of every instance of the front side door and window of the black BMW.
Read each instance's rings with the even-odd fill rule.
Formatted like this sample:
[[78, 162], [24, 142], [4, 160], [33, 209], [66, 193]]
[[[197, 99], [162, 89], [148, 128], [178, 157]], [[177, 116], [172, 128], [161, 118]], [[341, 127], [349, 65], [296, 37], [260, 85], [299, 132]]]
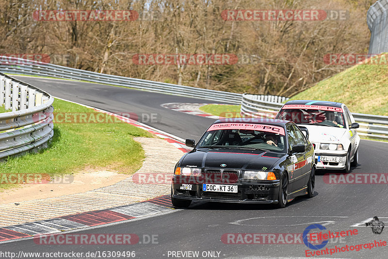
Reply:
[[[301, 168], [299, 167], [300, 162], [304, 160], [303, 156], [304, 153], [292, 153], [291, 149], [292, 146], [300, 144], [299, 138], [296, 135], [295, 130], [293, 129], [292, 125], [289, 125], [287, 127], [287, 137], [288, 137], [288, 144], [289, 144], [289, 160], [292, 162], [291, 165], [291, 190], [297, 190], [299, 189], [300, 183], [300, 177], [303, 174]], [[297, 183], [297, 181], [299, 181]]]

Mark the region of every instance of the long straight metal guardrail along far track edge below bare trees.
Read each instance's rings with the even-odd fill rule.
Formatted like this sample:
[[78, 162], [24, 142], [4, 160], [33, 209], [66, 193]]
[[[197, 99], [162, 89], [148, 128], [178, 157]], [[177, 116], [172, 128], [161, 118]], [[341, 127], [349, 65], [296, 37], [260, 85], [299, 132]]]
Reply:
[[[10, 59], [10, 57], [2, 58], [2, 56], [0, 56], [0, 59], [2, 60], [2, 62], [0, 63], [1, 71], [3, 73], [9, 74], [23, 74], [32, 76], [45, 76], [81, 81], [91, 81], [96, 83], [125, 86], [165, 94], [174, 94], [185, 97], [223, 101], [234, 104], [240, 104], [242, 97], [242, 94], [237, 93], [229, 93], [223, 91], [201, 89], [191, 86], [183, 86], [178, 84], [162, 83], [108, 74], [100, 74], [96, 72], [61, 65], [53, 65], [48, 63], [24, 60], [16, 57]], [[9, 60], [11, 60], [11, 62], [9, 62]]]

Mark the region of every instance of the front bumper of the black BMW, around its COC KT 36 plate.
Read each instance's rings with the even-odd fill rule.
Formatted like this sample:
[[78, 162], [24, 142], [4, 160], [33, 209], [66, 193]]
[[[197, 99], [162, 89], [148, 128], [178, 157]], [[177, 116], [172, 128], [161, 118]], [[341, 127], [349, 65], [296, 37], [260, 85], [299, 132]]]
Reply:
[[[234, 203], [278, 203], [279, 180], [271, 183], [241, 180], [236, 183], [214, 182], [214, 184], [237, 185], [237, 193], [204, 192], [202, 183], [182, 184], [177, 182], [179, 181], [175, 177], [172, 184], [172, 197], [174, 198]], [[191, 188], [191, 190], [182, 190], [182, 187], [183, 189]]]

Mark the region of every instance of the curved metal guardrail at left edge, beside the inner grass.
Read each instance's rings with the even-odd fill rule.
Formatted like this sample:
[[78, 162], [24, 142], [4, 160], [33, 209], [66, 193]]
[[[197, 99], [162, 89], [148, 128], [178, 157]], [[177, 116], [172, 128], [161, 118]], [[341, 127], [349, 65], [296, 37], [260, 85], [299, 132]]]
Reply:
[[[47, 147], [53, 132], [54, 98], [0, 73], [0, 160]], [[51, 115], [50, 115], [51, 114]]]

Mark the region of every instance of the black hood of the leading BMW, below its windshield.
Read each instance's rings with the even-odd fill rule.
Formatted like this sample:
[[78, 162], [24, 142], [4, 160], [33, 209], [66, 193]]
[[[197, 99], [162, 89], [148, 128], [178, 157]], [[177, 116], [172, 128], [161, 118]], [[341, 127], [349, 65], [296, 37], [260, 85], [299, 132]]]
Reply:
[[[201, 149], [193, 150], [182, 160], [180, 166], [199, 168], [225, 168], [242, 170], [271, 170], [285, 154], [260, 150]], [[226, 166], [221, 166], [226, 164]]]

